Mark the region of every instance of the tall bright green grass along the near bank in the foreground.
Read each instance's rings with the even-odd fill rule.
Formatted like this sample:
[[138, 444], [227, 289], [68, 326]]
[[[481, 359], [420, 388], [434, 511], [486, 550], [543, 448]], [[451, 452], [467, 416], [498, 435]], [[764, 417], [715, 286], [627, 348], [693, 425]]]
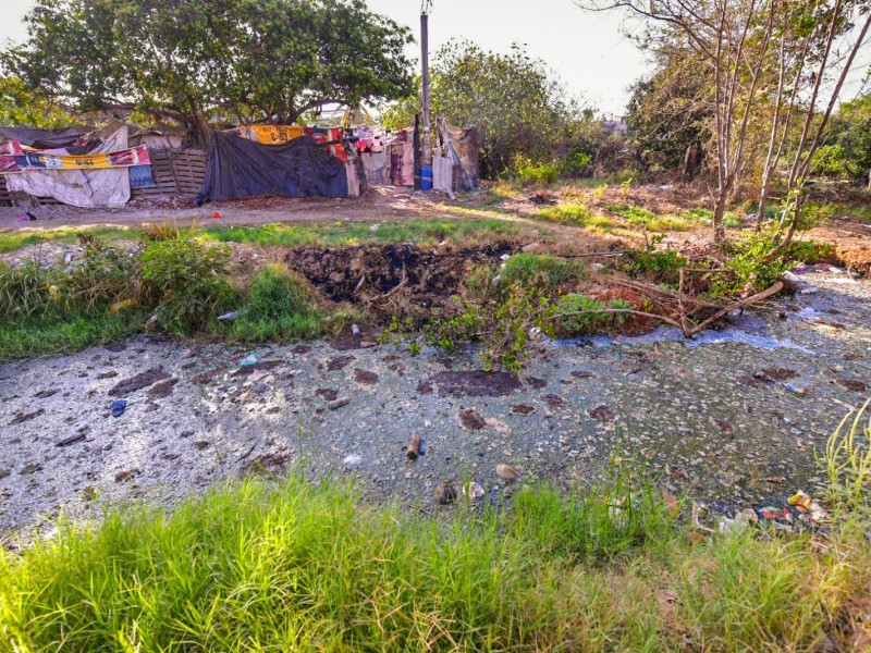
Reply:
[[292, 477], [127, 506], [0, 552], [0, 650], [805, 651], [864, 611], [861, 537], [694, 544], [628, 491], [437, 519]]

